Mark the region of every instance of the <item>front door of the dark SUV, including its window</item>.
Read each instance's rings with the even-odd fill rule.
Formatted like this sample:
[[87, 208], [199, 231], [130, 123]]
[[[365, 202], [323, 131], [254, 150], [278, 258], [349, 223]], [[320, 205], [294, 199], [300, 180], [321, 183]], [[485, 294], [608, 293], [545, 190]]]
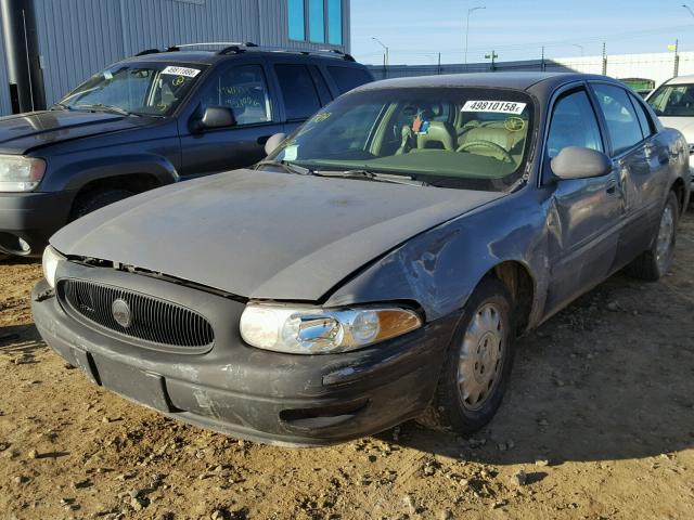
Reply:
[[[196, 177], [244, 168], [265, 157], [264, 145], [282, 132], [261, 61], [224, 64], [201, 86], [196, 108], [181, 118], [182, 174]], [[195, 130], [208, 106], [231, 108], [236, 123], [229, 128]]]

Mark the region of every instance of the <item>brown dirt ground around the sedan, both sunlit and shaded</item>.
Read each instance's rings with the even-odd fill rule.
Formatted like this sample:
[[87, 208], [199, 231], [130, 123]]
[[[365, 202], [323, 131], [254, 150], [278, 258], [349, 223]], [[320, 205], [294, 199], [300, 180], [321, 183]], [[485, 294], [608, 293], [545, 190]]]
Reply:
[[660, 283], [618, 274], [520, 341], [472, 439], [406, 424], [264, 446], [131, 404], [40, 340], [0, 262], [0, 518], [693, 519], [694, 213]]

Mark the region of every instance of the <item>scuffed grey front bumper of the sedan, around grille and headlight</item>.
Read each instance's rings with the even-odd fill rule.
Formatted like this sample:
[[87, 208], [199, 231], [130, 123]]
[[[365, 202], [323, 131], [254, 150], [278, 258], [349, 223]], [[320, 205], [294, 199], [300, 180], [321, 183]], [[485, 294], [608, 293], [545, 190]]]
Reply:
[[[207, 352], [168, 352], [104, 334], [65, 312], [43, 281], [31, 310], [46, 342], [88, 377], [167, 416], [250, 441], [321, 445], [376, 433], [419, 416], [436, 388], [457, 316], [355, 352], [298, 355], [249, 347], [244, 303], [113, 270], [110, 283], [166, 296], [215, 328]], [[103, 273], [100, 273], [103, 274]], [[83, 276], [81, 276], [83, 277]], [[175, 294], [176, 299], [172, 298]]]

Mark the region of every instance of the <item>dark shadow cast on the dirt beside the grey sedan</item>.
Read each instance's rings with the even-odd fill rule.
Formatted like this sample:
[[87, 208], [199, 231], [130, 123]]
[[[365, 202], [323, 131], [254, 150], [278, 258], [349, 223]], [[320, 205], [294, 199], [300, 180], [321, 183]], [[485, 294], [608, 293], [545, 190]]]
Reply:
[[616, 275], [519, 340], [504, 403], [472, 441], [409, 422], [400, 444], [498, 465], [693, 447], [694, 300], [691, 283], [678, 283], [683, 270], [658, 284]]

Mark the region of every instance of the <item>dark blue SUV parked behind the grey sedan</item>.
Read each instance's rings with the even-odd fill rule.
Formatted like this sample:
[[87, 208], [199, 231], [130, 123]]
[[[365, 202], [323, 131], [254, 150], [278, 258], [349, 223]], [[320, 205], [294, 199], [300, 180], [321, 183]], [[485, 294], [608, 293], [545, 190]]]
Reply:
[[67, 222], [136, 193], [249, 166], [274, 133], [372, 81], [335, 51], [253, 43], [143, 51], [50, 110], [0, 119], [0, 253], [39, 256]]

